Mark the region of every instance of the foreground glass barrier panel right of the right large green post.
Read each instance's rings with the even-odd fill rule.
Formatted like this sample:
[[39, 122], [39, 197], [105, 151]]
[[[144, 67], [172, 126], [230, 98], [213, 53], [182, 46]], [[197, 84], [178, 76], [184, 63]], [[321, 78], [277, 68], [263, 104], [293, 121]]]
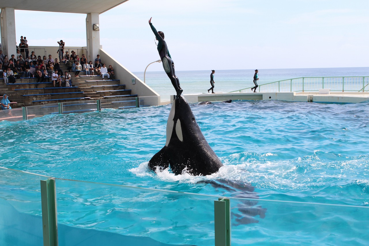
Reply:
[[231, 242], [369, 245], [369, 207], [231, 199]]

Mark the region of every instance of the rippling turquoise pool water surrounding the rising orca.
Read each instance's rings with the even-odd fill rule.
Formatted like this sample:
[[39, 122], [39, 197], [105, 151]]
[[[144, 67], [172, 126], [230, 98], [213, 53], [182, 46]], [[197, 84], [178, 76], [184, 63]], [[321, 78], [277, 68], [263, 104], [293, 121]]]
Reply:
[[[1, 165], [57, 178], [234, 197], [234, 203], [231, 203], [232, 245], [369, 243], [368, 209], [352, 208], [351, 211], [347, 207], [318, 208], [317, 205], [236, 200], [248, 197], [368, 207], [369, 103], [236, 101], [192, 105], [204, 136], [224, 163], [218, 173], [207, 177], [175, 176], [169, 170], [156, 174], [146, 168], [147, 161], [165, 144], [169, 110], [170, 105], [104, 109], [1, 122], [1, 142], [7, 146], [0, 154]], [[67, 194], [73, 185], [61, 186]], [[83, 192], [80, 189], [79, 194]], [[104, 204], [105, 198], [93, 197], [91, 193], [76, 196], [90, 203]], [[150, 197], [153, 206], [158, 203], [168, 205], [162, 196], [156, 198]], [[170, 201], [176, 199], [172, 197]], [[64, 199], [64, 206], [70, 205], [69, 202]], [[106, 199], [107, 207], [109, 203], [114, 204], [114, 201]], [[207, 208], [212, 206], [210, 202], [210, 205], [199, 208], [200, 201], [197, 208], [196, 202], [190, 205], [204, 216]], [[88, 218], [89, 209], [82, 210], [86, 212], [83, 218]], [[58, 211], [63, 211], [63, 207]], [[175, 210], [166, 209], [165, 212], [178, 215]], [[151, 218], [150, 213], [147, 218]], [[121, 220], [116, 215], [107, 216], [104, 220], [110, 219], [112, 223]], [[199, 221], [211, 220], [212, 216], [199, 216]], [[296, 216], [299, 223], [291, 223], [292, 217], [296, 219]], [[74, 225], [68, 222], [73, 226], [127, 232], [124, 226], [99, 227], [99, 219], [94, 216], [87, 219], [87, 225], [82, 225], [80, 214], [74, 217], [65, 213], [58, 219], [63, 222], [68, 218], [73, 218]], [[326, 218], [334, 218], [332, 223], [337, 225], [331, 225], [329, 231], [333, 226], [337, 232], [325, 233]], [[147, 226], [143, 224], [134, 233], [146, 235], [144, 228], [153, 221], [155, 219], [148, 219]], [[183, 233], [183, 240], [179, 240], [178, 235], [173, 238], [168, 235], [171, 223], [173, 221], [163, 221], [162, 229], [156, 228], [157, 232], [150, 232], [150, 236], [156, 240], [166, 238], [168, 243], [213, 245], [207, 240], [211, 226], [203, 228], [199, 223], [186, 228], [193, 238], [183, 233], [183, 228], [172, 228], [172, 231], [178, 229]], [[306, 231], [296, 233], [294, 226], [302, 226]]]

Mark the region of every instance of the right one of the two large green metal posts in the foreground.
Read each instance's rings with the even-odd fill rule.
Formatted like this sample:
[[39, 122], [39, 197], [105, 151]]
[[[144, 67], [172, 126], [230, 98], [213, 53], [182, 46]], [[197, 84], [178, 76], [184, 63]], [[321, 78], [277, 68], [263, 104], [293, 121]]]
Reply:
[[231, 246], [230, 199], [214, 201], [215, 246]]

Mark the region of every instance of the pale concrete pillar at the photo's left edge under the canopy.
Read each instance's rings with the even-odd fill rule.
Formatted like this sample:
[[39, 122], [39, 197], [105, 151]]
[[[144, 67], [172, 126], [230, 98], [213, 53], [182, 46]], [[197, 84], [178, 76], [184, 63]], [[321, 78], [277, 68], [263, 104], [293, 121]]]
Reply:
[[3, 54], [10, 56], [17, 54], [17, 40], [15, 37], [14, 8], [1, 8], [1, 46]]

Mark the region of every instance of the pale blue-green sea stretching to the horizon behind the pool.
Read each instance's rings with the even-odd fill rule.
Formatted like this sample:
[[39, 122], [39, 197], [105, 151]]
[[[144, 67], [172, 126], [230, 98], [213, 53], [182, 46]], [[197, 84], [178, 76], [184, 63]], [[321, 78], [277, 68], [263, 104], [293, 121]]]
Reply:
[[[214, 69], [214, 68], [212, 68]], [[296, 69], [259, 69], [258, 84], [281, 81], [300, 77], [320, 76], [369, 76], [369, 68], [296, 68]], [[245, 70], [216, 70], [214, 74], [214, 92], [231, 92], [253, 87], [255, 69]], [[176, 71], [183, 94], [207, 93], [210, 85], [210, 73], [208, 71]], [[136, 72], [142, 81], [144, 73]], [[175, 90], [170, 86], [170, 80], [164, 71], [146, 72], [145, 82], [154, 89], [162, 100], [169, 100], [170, 95], [175, 95]], [[168, 89], [169, 88], [169, 89]], [[251, 90], [250, 90], [251, 92]]]

